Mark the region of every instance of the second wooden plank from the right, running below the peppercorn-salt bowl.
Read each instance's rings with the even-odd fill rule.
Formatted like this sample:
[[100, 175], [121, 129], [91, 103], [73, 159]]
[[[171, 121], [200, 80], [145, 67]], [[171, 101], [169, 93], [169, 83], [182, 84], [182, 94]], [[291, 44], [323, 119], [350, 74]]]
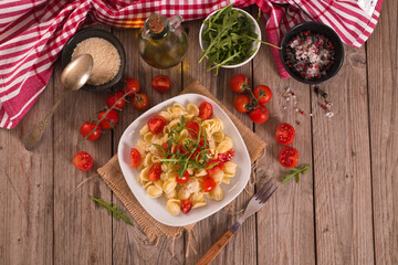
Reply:
[[370, 152], [365, 47], [345, 45], [345, 62], [321, 85], [336, 116], [313, 92], [314, 193], [318, 264], [373, 264]]

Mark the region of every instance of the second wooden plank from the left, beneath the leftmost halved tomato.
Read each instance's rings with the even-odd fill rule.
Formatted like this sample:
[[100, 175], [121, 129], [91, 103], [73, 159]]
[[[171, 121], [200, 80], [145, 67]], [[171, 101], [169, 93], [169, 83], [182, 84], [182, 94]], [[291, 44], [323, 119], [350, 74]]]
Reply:
[[[107, 29], [103, 26], [103, 29]], [[54, 91], [61, 92], [60, 62], [55, 65]], [[73, 92], [66, 95], [54, 115], [54, 263], [111, 264], [112, 216], [100, 209], [90, 197], [111, 201], [111, 191], [95, 170], [78, 171], [73, 165], [77, 151], [87, 151], [94, 168], [103, 166], [112, 156], [112, 132], [106, 131], [96, 141], [84, 140], [81, 125], [95, 118], [105, 106], [106, 92]]]

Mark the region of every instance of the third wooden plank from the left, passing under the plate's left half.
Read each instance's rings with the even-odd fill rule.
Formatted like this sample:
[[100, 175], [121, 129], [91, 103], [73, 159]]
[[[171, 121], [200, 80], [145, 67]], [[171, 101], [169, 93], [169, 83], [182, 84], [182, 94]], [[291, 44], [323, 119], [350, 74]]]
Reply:
[[[138, 54], [138, 30], [113, 30], [114, 34], [123, 43], [127, 54], [126, 77], [134, 77], [140, 84], [140, 93], [148, 95], [150, 107], [160, 102], [178, 95], [181, 91], [181, 65], [169, 70], [156, 70], [147, 65]], [[151, 88], [151, 78], [156, 75], [168, 75], [171, 87], [168, 93], [159, 94]], [[118, 140], [123, 131], [143, 112], [135, 109], [128, 104], [121, 114], [121, 121], [114, 131], [114, 152], [117, 152]], [[113, 200], [121, 205], [119, 200], [114, 195]], [[148, 242], [147, 236], [138, 225], [135, 227], [124, 223], [113, 223], [113, 262], [114, 264], [182, 264], [184, 237], [159, 239], [157, 246]]]

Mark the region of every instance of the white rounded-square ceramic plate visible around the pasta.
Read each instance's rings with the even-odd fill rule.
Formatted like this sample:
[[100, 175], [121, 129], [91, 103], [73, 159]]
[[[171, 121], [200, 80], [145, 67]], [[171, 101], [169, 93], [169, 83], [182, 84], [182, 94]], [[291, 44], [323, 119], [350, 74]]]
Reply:
[[[145, 189], [142, 184], [138, 183], [138, 169], [130, 168], [130, 148], [135, 147], [138, 139], [140, 139], [139, 130], [147, 124], [150, 117], [159, 114], [160, 110], [166, 109], [172, 104], [178, 103], [182, 106], [187, 106], [188, 103], [193, 103], [200, 105], [202, 102], [209, 102], [213, 106], [214, 116], [221, 118], [224, 123], [223, 132], [233, 140], [233, 149], [235, 156], [232, 161], [239, 161], [237, 174], [231, 178], [230, 184], [221, 184], [221, 188], [224, 192], [224, 198], [221, 201], [213, 201], [212, 199], [207, 199], [207, 205], [202, 208], [192, 209], [188, 214], [180, 213], [178, 215], [171, 215], [166, 210], [166, 198], [161, 195], [160, 198], [150, 198], [146, 194]], [[228, 115], [221, 109], [210, 98], [198, 95], [198, 94], [185, 94], [180, 96], [172, 97], [168, 100], [165, 100], [155, 107], [147, 110], [145, 114], [139, 116], [134, 120], [127, 129], [123, 132], [121, 141], [118, 144], [118, 161], [122, 168], [122, 172], [126, 179], [126, 182], [133, 194], [137, 198], [138, 202], [143, 208], [157, 221], [160, 223], [170, 225], [170, 226], [184, 226], [198, 222], [207, 216], [216, 213], [228, 203], [230, 203], [234, 198], [242, 192], [243, 188], [247, 186], [251, 172], [251, 162], [248, 149], [244, 145], [242, 137], [240, 136], [237, 127]]]

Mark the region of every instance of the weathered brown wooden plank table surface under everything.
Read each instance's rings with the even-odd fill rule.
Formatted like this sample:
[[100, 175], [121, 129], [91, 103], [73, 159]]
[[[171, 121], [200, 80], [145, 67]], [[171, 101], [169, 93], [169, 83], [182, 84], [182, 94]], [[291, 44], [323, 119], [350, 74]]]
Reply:
[[[254, 14], [256, 8], [250, 11]], [[300, 151], [300, 163], [310, 163], [311, 170], [298, 183], [283, 184], [245, 221], [213, 264], [398, 264], [397, 13], [397, 1], [385, 1], [369, 41], [360, 49], [345, 45], [342, 71], [322, 85], [334, 103], [333, 118], [324, 115], [313, 87], [279, 77], [266, 46], [249, 64], [221, 70], [214, 77], [197, 63], [201, 21], [184, 24], [189, 35], [187, 56], [167, 71], [151, 68], [138, 56], [138, 31], [108, 29], [125, 46], [126, 76], [139, 81], [151, 106], [198, 80], [269, 144], [256, 162], [258, 183], [264, 176], [281, 180], [286, 173], [277, 161], [276, 126], [301, 123], [295, 125], [293, 147]], [[218, 212], [199, 222], [196, 252], [187, 256], [187, 233], [151, 245], [137, 225], [117, 222], [98, 209], [91, 195], [124, 208], [100, 178], [76, 188], [95, 172], [76, 170], [74, 153], [88, 151], [94, 167], [104, 165], [116, 152], [125, 128], [140, 115], [132, 105], [123, 110], [114, 131], [94, 142], [82, 141], [80, 126], [104, 107], [106, 93], [71, 93], [40, 146], [33, 152], [24, 150], [23, 139], [61, 92], [61, 71], [57, 62], [46, 89], [17, 128], [0, 130], [0, 264], [193, 264], [239, 214]], [[233, 109], [229, 80], [237, 73], [273, 89], [265, 124], [254, 125]], [[165, 95], [150, 88], [158, 74], [167, 74], [172, 83]], [[312, 118], [292, 108], [283, 110], [281, 94], [287, 86]], [[242, 192], [232, 204], [241, 209], [249, 198]]]

